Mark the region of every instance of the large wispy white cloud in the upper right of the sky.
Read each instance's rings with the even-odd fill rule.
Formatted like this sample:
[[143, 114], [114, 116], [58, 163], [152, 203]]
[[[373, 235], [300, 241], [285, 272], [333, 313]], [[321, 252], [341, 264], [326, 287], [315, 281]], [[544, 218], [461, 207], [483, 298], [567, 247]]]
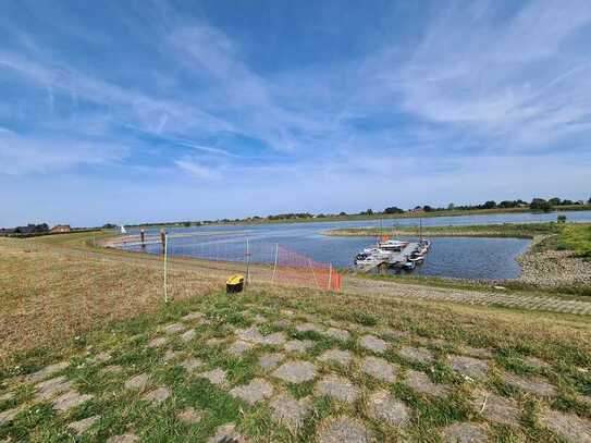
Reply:
[[389, 51], [375, 60], [378, 87], [398, 95], [408, 112], [504, 150], [547, 147], [587, 131], [577, 123], [589, 118], [591, 66], [583, 46], [574, 46], [591, 23], [591, 3], [533, 1], [495, 20], [498, 7], [443, 10], [402, 66]]

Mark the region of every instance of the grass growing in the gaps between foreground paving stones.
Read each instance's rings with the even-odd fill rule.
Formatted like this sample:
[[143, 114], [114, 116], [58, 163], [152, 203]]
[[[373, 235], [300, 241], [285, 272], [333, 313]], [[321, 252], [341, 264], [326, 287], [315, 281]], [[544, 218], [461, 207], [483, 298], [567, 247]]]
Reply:
[[[286, 310], [294, 316], [281, 313]], [[199, 311], [202, 318], [182, 321], [189, 311]], [[288, 322], [279, 323], [282, 327], [278, 320]], [[279, 333], [284, 340], [276, 345], [256, 344], [242, 356], [231, 355], [227, 349], [237, 340], [235, 331], [257, 323], [261, 336]], [[183, 327], [177, 333], [167, 333], [164, 327], [171, 324]], [[296, 328], [298, 324], [306, 324], [304, 331]], [[330, 328], [336, 327], [349, 332], [348, 340], [327, 335]], [[195, 331], [188, 342], [180, 339], [185, 330]], [[387, 349], [359, 346], [361, 337], [368, 335], [383, 337]], [[164, 343], [149, 347], [158, 337], [164, 337]], [[211, 342], [213, 337], [221, 341]], [[540, 417], [545, 410], [554, 410], [567, 420], [575, 420], [572, 417], [583, 423], [591, 420], [587, 399], [591, 395], [590, 337], [589, 323], [571, 317], [526, 316], [507, 310], [392, 299], [375, 304], [353, 296], [344, 304], [341, 296], [310, 291], [249, 291], [232, 297], [211, 294], [175, 302], [158, 312], [115, 320], [104, 330], [82, 336], [72, 346], [13, 356], [10, 365], [2, 366], [0, 398], [5, 393], [11, 396], [0, 401], [0, 414], [21, 409], [13, 419], [0, 421], [0, 439], [96, 441], [133, 433], [150, 442], [207, 441], [220, 427], [233, 423], [236, 433], [253, 441], [310, 441], [319, 435], [321, 440], [336, 418], [352, 417], [377, 441], [435, 442], [440, 432], [453, 423], [476, 423], [491, 441], [558, 441], [561, 438], [569, 441], [561, 436], [559, 427], [553, 428], [556, 423], [542, 421]], [[285, 353], [283, 345], [290, 340], [309, 340], [313, 344], [305, 352]], [[417, 361], [413, 359], [415, 354], [408, 350], [401, 354], [403, 348], [422, 349], [418, 356], [431, 355], [433, 360]], [[465, 378], [451, 368], [448, 356], [461, 355], [466, 348], [472, 355], [490, 354], [488, 358], [479, 358], [489, 364], [483, 380]], [[320, 361], [318, 357], [329, 349], [349, 352], [350, 366]], [[174, 350], [170, 360], [164, 358], [167, 350]], [[284, 362], [312, 364], [316, 377], [300, 383], [273, 377], [272, 370], [258, 364], [261, 355], [273, 352], [286, 354]], [[99, 355], [102, 357], [98, 358]], [[393, 365], [395, 380], [379, 380], [361, 371], [361, 361], [368, 357]], [[201, 366], [194, 372], [187, 371], [181, 366], [187, 358], [199, 360]], [[27, 382], [26, 377], [57, 361], [66, 361], [67, 367], [48, 378], [64, 376], [77, 392], [93, 395], [91, 399], [60, 413], [53, 408], [52, 397], [38, 398], [36, 383]], [[113, 371], [112, 368], [119, 369]], [[220, 384], [199, 377], [213, 369], [225, 371]], [[406, 384], [407, 371], [422, 372], [447, 391], [442, 395], [419, 393]], [[139, 373], [149, 376], [147, 385], [125, 389], [124, 383]], [[541, 378], [554, 386], [556, 395], [544, 397], [515, 387], [507, 382], [505, 373], [528, 380]], [[352, 403], [318, 395], [318, 382], [329, 376], [348, 381], [360, 395], [352, 397]], [[267, 380], [274, 393], [309, 401], [309, 414], [298, 429], [278, 422], [269, 399], [250, 405], [230, 393], [233, 387], [257, 378]], [[157, 387], [168, 390], [170, 395], [162, 403], [152, 404], [146, 399], [146, 393]], [[403, 426], [372, 415], [371, 395], [381, 390], [408, 409], [409, 417]], [[470, 403], [475, 390], [515, 402], [518, 417], [509, 424], [489, 420]], [[187, 407], [199, 411], [198, 422], [186, 423], [180, 419], [180, 413]], [[99, 419], [81, 435], [67, 428], [89, 417]], [[580, 432], [586, 432], [581, 429]]]

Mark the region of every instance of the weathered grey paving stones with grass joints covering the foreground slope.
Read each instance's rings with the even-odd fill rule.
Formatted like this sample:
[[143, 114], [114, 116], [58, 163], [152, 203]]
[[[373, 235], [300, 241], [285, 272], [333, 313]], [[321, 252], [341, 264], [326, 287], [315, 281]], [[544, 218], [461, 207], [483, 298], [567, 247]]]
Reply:
[[[268, 315], [192, 311], [5, 380], [0, 440], [377, 442], [427, 432], [493, 442], [521, 441], [528, 422], [543, 441], [591, 441], [587, 397], [556, 382], [559, 361], [515, 357], [529, 369], [514, 373], [519, 366], [495, 349]], [[576, 402], [579, 414], [556, 398]]]

